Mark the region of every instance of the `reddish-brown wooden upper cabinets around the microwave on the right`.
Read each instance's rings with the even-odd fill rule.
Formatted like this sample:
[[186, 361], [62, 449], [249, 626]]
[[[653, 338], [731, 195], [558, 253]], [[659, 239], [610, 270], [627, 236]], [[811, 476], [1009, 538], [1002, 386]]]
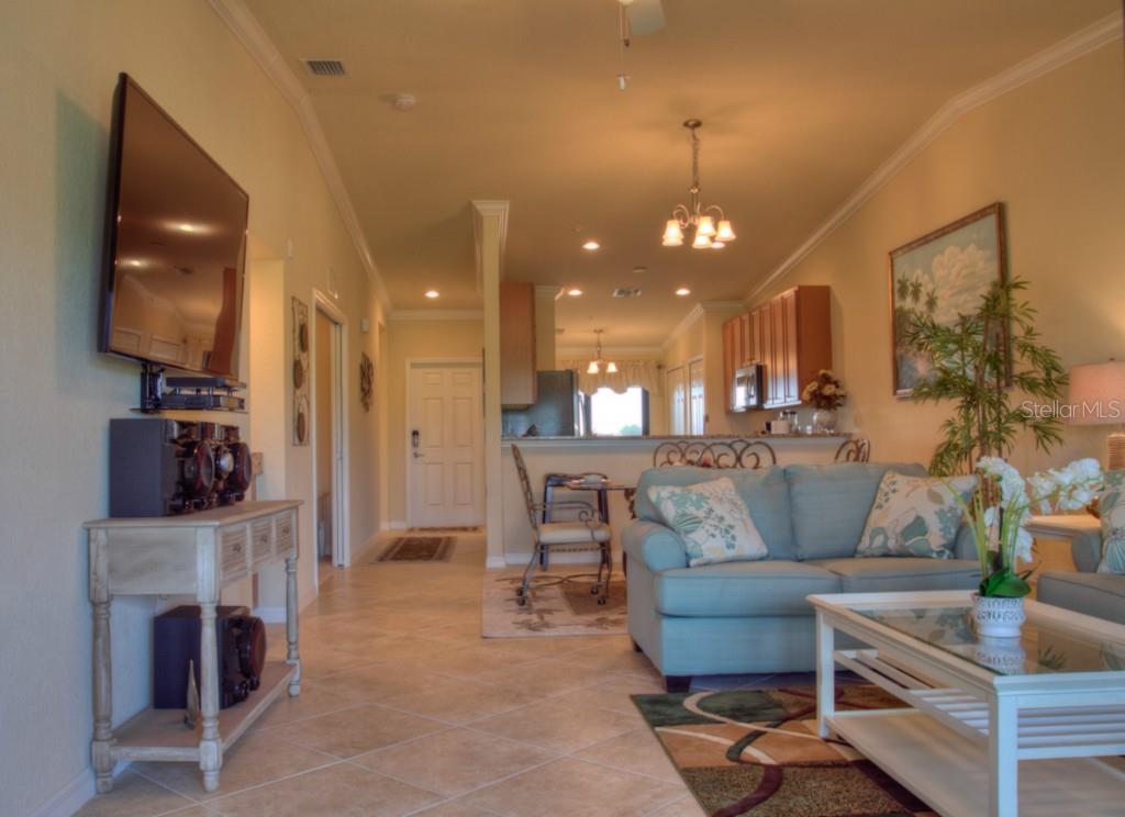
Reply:
[[828, 287], [794, 287], [731, 318], [722, 344], [728, 388], [736, 369], [759, 363], [764, 408], [800, 406], [804, 385], [832, 366], [830, 321]]

